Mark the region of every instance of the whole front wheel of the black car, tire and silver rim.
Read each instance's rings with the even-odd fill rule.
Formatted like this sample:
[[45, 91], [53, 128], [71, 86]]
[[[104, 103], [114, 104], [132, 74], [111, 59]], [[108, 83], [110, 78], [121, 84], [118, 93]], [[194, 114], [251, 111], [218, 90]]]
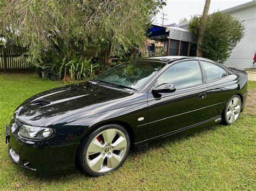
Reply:
[[120, 125], [104, 125], [84, 137], [78, 148], [78, 161], [83, 172], [100, 176], [115, 171], [127, 158], [130, 137]]

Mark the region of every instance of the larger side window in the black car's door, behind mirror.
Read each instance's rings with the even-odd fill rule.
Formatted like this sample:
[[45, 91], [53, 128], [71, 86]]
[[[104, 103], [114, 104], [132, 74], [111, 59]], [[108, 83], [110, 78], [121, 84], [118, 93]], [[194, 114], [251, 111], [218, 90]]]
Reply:
[[203, 83], [199, 62], [190, 60], [170, 66], [158, 77], [157, 85], [162, 83], [171, 83], [176, 89], [197, 86]]

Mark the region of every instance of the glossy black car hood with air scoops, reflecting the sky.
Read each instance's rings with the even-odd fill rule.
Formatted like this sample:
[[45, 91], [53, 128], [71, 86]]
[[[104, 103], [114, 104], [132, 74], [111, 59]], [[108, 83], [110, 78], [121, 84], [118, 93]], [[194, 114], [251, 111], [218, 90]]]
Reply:
[[73, 84], [44, 91], [30, 97], [14, 112], [14, 117], [33, 126], [51, 125], [53, 118], [58, 123], [68, 123], [78, 118], [98, 114], [112, 107], [108, 104], [133, 95], [131, 91], [111, 88], [94, 82]]

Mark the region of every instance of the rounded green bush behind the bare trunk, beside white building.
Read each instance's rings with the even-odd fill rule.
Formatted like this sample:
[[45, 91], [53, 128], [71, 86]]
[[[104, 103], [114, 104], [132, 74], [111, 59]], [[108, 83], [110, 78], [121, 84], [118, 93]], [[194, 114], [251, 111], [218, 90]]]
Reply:
[[[188, 31], [198, 39], [201, 16], [194, 16], [188, 25]], [[215, 12], [208, 15], [205, 25], [204, 41], [199, 45], [204, 57], [224, 63], [232, 49], [244, 37], [245, 26], [238, 18]]]

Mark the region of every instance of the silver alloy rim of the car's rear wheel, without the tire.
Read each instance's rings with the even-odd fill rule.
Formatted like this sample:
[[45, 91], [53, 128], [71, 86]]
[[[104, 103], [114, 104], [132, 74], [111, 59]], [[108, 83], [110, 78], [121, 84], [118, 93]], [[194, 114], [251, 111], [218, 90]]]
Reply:
[[234, 97], [227, 105], [226, 118], [230, 123], [234, 123], [239, 117], [241, 111], [241, 101], [238, 97]]

